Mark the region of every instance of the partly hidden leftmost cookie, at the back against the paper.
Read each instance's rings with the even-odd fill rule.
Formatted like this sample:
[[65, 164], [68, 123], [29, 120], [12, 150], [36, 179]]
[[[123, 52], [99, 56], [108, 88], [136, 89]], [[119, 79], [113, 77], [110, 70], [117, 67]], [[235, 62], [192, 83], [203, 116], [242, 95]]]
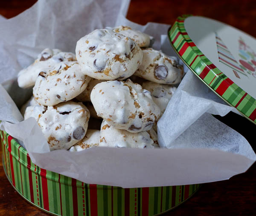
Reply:
[[62, 61], [76, 61], [75, 54], [62, 52], [59, 49], [44, 49], [32, 65], [18, 73], [18, 85], [20, 88], [29, 88], [35, 85], [35, 80], [41, 71], [48, 71]]

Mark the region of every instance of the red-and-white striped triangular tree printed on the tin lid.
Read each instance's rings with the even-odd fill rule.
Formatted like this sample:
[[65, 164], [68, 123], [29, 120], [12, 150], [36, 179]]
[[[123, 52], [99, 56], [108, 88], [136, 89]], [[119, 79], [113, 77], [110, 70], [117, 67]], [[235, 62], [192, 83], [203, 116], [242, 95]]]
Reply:
[[227, 46], [224, 44], [224, 42], [221, 40], [220, 36], [216, 32], [215, 32], [215, 38], [216, 38], [219, 61], [224, 65], [227, 65], [228, 67], [230, 67], [237, 78], [241, 79], [239, 76], [239, 73], [247, 77], [247, 74], [239, 66], [236, 59], [233, 57], [233, 55], [231, 54]]

